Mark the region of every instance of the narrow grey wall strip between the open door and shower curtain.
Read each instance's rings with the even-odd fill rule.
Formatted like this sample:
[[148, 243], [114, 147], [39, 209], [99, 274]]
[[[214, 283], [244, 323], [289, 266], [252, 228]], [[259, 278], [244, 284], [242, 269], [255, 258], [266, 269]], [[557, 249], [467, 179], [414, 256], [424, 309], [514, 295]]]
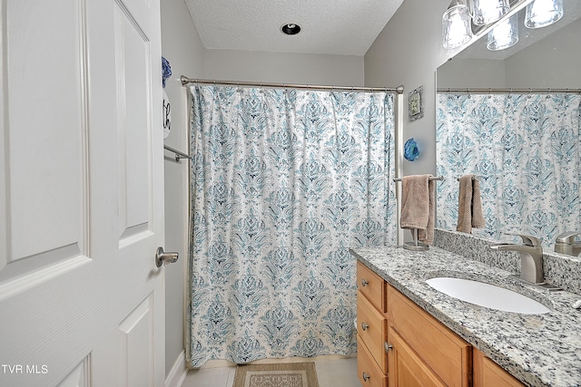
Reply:
[[[189, 153], [187, 89], [180, 75], [201, 77], [203, 47], [183, 0], [162, 1], [162, 55], [172, 65], [165, 92], [172, 104], [172, 130], [165, 144]], [[188, 173], [187, 160], [175, 162], [165, 151], [165, 246], [177, 251], [177, 263], [165, 267], [165, 368], [166, 376], [183, 350], [183, 295], [188, 259]]]

